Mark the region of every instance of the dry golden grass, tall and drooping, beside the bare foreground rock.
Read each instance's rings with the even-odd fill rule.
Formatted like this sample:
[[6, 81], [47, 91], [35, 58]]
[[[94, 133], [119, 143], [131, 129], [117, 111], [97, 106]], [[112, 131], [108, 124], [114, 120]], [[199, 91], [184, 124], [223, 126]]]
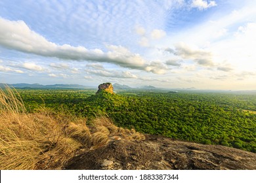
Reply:
[[86, 122], [46, 110], [28, 114], [16, 90], [0, 89], [0, 169], [62, 169], [80, 148], [104, 146], [115, 135], [144, 139], [104, 116], [95, 118], [91, 127]]

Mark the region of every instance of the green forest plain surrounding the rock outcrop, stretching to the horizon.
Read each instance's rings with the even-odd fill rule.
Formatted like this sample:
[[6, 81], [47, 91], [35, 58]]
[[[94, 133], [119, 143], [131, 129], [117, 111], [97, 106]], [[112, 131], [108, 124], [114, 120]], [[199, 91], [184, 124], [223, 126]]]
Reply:
[[18, 90], [30, 112], [48, 108], [78, 117], [107, 114], [119, 127], [173, 139], [256, 152], [256, 94], [96, 90]]

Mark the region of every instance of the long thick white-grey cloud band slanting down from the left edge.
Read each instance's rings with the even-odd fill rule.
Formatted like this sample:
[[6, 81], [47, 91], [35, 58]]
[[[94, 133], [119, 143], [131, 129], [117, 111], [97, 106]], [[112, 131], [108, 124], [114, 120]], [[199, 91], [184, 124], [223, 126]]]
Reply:
[[[77, 61], [114, 63], [130, 69], [162, 73], [156, 67], [149, 67], [151, 63], [148, 63], [139, 54], [134, 54], [123, 46], [107, 45], [106, 48], [109, 51], [102, 52], [100, 49], [88, 50], [83, 46], [57, 45], [32, 31], [23, 21], [10, 21], [0, 18], [0, 27], [0, 45], [20, 52]], [[157, 31], [154, 36], [160, 37], [160, 35]], [[31, 69], [30, 67], [35, 68], [33, 65], [24, 66], [26, 69]]]

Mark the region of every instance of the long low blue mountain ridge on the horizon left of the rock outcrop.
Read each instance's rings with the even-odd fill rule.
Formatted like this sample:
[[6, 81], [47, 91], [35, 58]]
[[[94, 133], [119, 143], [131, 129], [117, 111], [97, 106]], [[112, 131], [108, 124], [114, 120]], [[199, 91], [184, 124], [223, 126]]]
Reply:
[[51, 84], [51, 85], [42, 85], [42, 84], [27, 84], [27, 83], [18, 83], [18, 84], [3, 84], [0, 83], [0, 88], [5, 88], [7, 86], [13, 86], [14, 88], [90, 88], [89, 86], [83, 86], [80, 84]]

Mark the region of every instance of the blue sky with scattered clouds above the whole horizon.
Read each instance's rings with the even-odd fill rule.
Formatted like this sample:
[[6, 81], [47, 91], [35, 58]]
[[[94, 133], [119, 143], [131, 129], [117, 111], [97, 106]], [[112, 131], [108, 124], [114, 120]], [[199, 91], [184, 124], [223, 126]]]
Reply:
[[0, 82], [256, 90], [256, 1], [0, 1]]

